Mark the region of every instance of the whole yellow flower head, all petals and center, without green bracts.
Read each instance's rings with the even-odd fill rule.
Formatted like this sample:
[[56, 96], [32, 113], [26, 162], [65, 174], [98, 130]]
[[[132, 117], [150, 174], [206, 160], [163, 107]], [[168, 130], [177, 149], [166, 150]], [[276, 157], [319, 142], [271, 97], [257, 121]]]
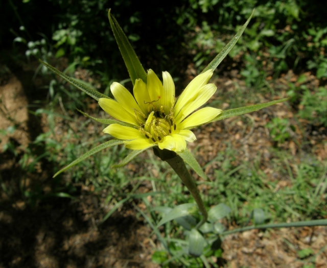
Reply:
[[185, 141], [196, 140], [189, 129], [222, 113], [211, 107], [194, 112], [216, 92], [214, 84], [207, 84], [212, 74], [213, 70], [208, 70], [195, 77], [177, 101], [175, 85], [168, 72], [162, 72], [164, 83], [161, 83], [158, 76], [149, 70], [147, 84], [142, 79], [136, 80], [134, 97], [121, 84], [112, 83], [110, 90], [116, 100], [100, 98], [99, 104], [109, 115], [130, 126], [111, 124], [103, 132], [126, 140], [126, 147], [132, 150], [157, 145], [160, 149], [184, 151]]

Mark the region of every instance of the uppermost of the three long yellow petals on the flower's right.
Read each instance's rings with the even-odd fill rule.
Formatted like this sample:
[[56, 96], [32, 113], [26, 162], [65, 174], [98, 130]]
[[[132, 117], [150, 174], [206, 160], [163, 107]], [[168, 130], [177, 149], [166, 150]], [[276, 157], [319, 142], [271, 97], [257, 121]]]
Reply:
[[209, 79], [213, 75], [213, 72], [214, 70], [209, 69], [206, 72], [199, 74], [184, 89], [175, 105], [175, 117], [179, 114], [180, 110], [185, 106], [186, 103], [189, 103], [190, 101], [194, 100], [201, 88], [208, 83]]

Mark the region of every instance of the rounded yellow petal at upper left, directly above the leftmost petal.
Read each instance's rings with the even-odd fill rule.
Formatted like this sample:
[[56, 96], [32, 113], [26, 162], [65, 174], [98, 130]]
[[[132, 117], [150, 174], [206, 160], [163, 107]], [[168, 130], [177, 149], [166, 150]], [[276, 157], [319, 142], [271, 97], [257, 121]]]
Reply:
[[135, 110], [141, 111], [133, 95], [121, 84], [113, 82], [110, 90], [114, 98], [120, 103], [124, 109], [132, 115], [135, 115]]

